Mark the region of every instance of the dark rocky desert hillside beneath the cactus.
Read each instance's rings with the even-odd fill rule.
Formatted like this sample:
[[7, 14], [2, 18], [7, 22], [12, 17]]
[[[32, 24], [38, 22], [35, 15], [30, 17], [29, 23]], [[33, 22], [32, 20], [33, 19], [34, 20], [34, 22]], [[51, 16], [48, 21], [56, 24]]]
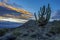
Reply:
[[38, 26], [34, 20], [10, 29], [0, 40], [60, 40], [60, 21], [49, 22], [46, 26]]

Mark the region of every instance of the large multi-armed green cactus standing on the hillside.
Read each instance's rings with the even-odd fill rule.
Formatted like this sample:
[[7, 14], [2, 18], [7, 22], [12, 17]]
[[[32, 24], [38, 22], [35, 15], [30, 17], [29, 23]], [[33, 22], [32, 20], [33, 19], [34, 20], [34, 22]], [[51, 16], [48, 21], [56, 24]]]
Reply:
[[37, 15], [34, 13], [35, 19], [39, 26], [44, 26], [48, 23], [51, 15], [51, 8], [48, 4], [48, 7], [46, 8], [45, 5], [40, 8]]

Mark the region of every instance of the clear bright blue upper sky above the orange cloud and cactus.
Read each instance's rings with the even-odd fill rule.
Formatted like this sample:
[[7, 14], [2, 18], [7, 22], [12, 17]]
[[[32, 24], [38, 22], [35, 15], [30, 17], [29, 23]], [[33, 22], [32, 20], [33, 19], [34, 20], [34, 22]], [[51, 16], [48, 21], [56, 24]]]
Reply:
[[60, 9], [60, 0], [10, 0], [10, 4], [17, 4], [22, 6], [22, 8], [30, 11], [30, 12], [35, 12], [38, 11], [39, 8], [43, 5], [46, 5], [50, 3], [52, 11]]

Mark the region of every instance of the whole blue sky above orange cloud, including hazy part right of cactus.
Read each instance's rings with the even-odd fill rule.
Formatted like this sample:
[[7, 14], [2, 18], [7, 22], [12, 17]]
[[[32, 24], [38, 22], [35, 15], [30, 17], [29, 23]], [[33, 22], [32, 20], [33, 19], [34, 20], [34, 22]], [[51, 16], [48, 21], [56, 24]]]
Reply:
[[5, 2], [15, 7], [23, 8], [32, 14], [37, 12], [43, 5], [47, 6], [49, 3], [52, 10], [52, 16], [56, 17], [59, 15], [60, 17], [60, 0], [5, 0]]

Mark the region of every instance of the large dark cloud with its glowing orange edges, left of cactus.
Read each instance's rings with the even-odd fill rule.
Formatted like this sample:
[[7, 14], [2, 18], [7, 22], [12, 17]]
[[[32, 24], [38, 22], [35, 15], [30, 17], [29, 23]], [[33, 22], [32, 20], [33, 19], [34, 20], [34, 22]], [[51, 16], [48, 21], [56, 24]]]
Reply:
[[21, 9], [21, 8], [18, 9], [16, 7], [13, 7], [11, 5], [1, 2], [0, 3], [0, 16], [26, 19], [26, 18], [31, 18], [32, 14], [30, 14], [30, 12], [24, 9]]

